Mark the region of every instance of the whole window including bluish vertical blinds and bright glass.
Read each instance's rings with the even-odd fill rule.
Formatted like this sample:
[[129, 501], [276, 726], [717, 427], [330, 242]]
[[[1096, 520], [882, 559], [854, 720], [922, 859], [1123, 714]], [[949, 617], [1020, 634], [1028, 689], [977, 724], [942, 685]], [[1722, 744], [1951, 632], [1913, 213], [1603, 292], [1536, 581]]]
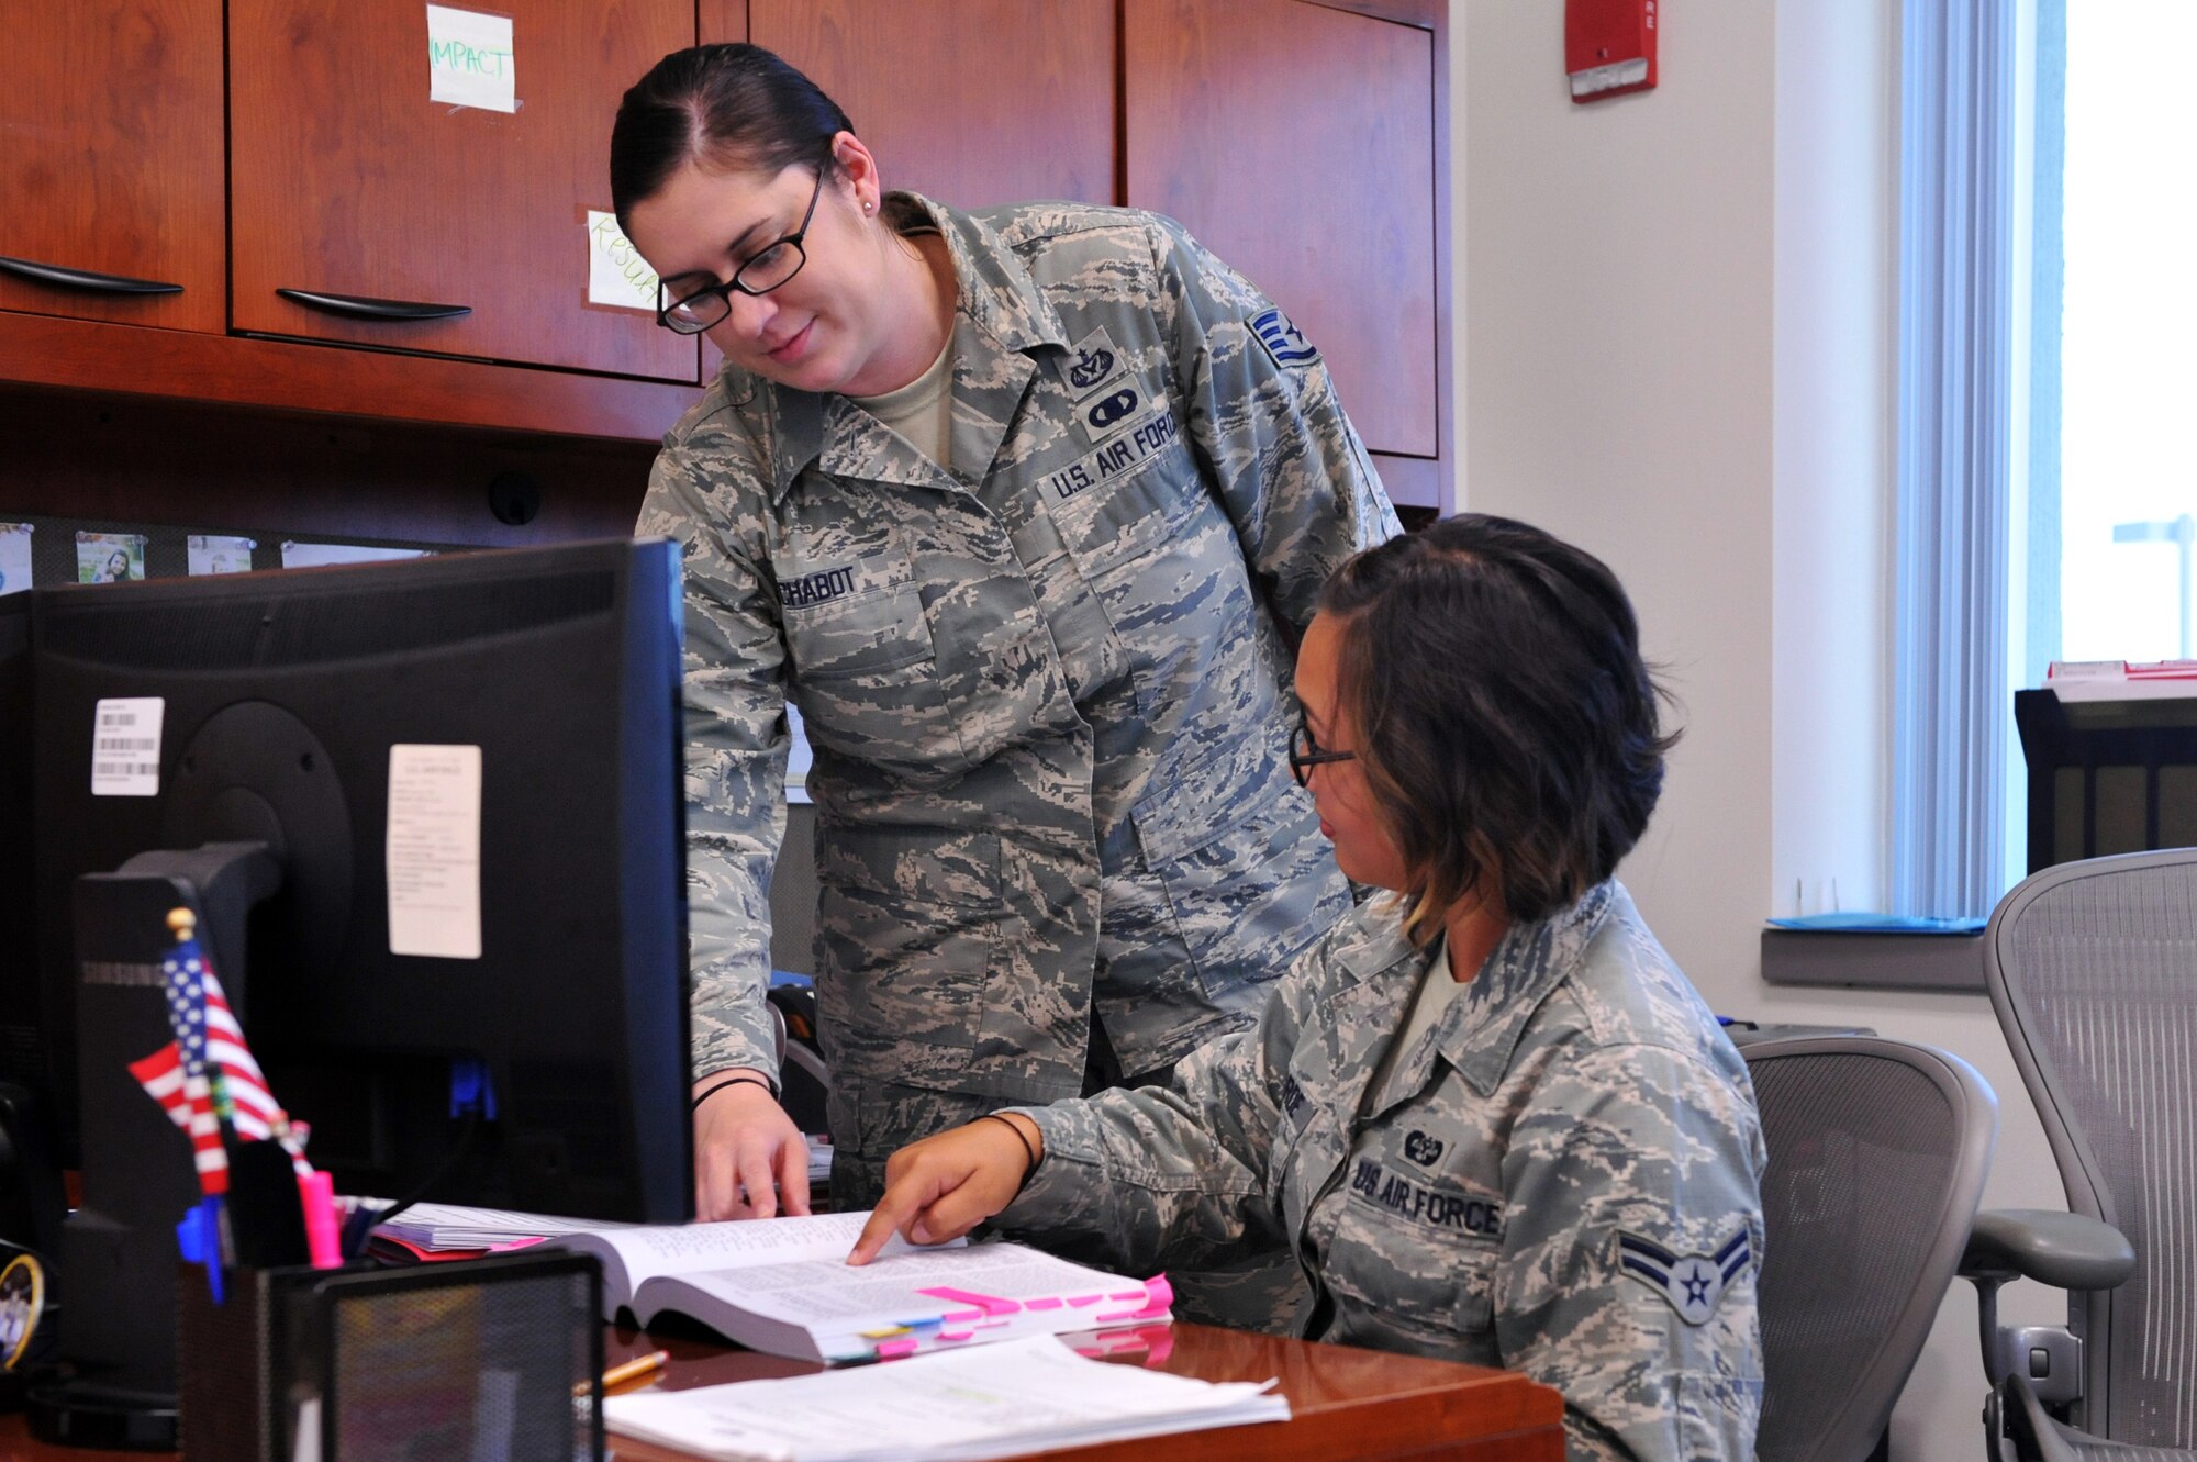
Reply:
[[1894, 547], [1898, 913], [2026, 858], [2012, 689], [2193, 652], [2188, 0], [1907, 0]]

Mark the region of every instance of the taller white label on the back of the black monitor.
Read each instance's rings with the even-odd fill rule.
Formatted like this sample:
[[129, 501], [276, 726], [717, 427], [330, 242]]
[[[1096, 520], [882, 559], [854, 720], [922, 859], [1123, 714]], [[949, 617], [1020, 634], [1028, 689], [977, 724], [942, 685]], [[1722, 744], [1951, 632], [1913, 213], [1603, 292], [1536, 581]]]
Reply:
[[389, 749], [389, 953], [481, 957], [481, 749]]

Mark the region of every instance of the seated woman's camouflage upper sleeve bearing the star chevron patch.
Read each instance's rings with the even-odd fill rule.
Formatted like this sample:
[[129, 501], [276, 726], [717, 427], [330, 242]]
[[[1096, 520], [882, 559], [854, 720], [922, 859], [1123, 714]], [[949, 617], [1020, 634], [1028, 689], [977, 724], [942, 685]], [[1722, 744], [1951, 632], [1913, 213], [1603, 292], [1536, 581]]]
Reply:
[[[1588, 1051], [1536, 1089], [1503, 1159], [1492, 1302], [1503, 1363], [1564, 1394], [1571, 1462], [1755, 1455], [1762, 1163], [1747, 1091], [1665, 1047]], [[1674, 1280], [1740, 1236], [1751, 1262], [1689, 1317], [1683, 1286], [1624, 1267], [1621, 1236], [1674, 1256]]]

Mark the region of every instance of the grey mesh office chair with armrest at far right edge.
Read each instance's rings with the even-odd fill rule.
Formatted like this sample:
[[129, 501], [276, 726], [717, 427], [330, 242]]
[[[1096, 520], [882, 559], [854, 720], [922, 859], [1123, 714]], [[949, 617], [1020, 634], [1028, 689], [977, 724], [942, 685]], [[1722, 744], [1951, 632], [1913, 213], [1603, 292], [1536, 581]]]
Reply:
[[[2034, 874], [1984, 975], [2072, 1210], [1977, 1218], [1990, 1455], [2197, 1458], [2197, 850]], [[1999, 1330], [2015, 1275], [2067, 1326]]]

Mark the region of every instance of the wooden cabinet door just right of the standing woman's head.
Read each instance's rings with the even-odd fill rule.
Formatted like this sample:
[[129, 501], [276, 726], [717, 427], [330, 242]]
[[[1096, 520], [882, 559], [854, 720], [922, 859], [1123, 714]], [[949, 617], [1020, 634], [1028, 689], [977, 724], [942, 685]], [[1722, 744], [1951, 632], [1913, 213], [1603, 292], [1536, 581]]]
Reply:
[[1112, 0], [749, 0], [747, 22], [846, 110], [885, 187], [1114, 202]]

